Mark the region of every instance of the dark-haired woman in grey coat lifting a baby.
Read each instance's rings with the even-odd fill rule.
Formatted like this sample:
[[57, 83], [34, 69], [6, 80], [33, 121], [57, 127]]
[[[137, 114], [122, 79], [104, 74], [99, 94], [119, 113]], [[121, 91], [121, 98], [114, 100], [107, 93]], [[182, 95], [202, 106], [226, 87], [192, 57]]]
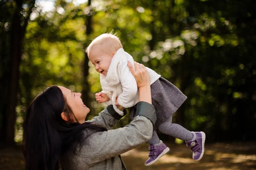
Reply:
[[81, 101], [81, 93], [65, 87], [50, 86], [32, 101], [23, 136], [26, 170], [58, 170], [59, 163], [62, 170], [126, 169], [119, 155], [148, 141], [156, 121], [145, 66], [128, 66], [140, 102], [136, 117], [125, 127], [111, 130], [122, 118], [112, 105], [84, 122], [90, 109]]

